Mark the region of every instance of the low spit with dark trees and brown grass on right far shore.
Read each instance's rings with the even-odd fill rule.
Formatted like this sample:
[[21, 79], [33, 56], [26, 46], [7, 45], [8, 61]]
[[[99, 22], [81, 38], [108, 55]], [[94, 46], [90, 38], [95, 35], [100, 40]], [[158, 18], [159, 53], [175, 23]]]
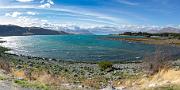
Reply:
[[[147, 32], [125, 32], [118, 36], [129, 36], [125, 38], [109, 37], [110, 40], [124, 40], [129, 42], [140, 42], [154, 45], [180, 45], [180, 33], [147, 33]], [[133, 37], [131, 37], [133, 36]]]

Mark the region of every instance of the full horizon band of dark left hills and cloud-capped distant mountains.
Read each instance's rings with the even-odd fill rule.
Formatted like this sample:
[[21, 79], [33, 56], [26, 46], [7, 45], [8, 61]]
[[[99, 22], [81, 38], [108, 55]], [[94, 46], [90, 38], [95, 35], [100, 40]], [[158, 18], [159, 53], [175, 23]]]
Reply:
[[40, 27], [20, 27], [16, 25], [0, 25], [0, 36], [24, 36], [24, 35], [64, 35], [64, 34], [118, 34], [123, 32], [148, 32], [148, 33], [180, 33], [179, 28], [116, 28], [116, 27], [94, 27], [80, 28], [78, 26], [58, 27], [57, 29], [45, 29]]

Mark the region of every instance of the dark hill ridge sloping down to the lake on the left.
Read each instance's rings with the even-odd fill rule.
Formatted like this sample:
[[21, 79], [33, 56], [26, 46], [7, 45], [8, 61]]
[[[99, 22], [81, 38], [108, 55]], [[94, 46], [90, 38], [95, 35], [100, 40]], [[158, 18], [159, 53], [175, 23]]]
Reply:
[[68, 34], [64, 31], [55, 31], [39, 27], [20, 27], [16, 25], [0, 25], [0, 36], [24, 36], [24, 35], [61, 35]]

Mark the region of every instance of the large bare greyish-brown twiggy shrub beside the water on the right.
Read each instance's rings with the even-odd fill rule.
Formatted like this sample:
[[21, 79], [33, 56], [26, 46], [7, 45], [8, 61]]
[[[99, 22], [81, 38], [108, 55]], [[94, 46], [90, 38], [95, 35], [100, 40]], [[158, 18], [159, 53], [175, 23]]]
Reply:
[[155, 74], [162, 69], [170, 68], [172, 60], [170, 51], [157, 49], [153, 55], [145, 56], [143, 65], [148, 74]]

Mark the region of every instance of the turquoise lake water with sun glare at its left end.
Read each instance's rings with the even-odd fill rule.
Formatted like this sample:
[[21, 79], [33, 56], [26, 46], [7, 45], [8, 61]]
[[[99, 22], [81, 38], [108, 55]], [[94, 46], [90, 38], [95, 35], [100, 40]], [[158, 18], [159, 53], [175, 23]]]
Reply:
[[[61, 60], [100, 61], [138, 60], [152, 54], [155, 45], [105, 39], [115, 36], [98, 35], [45, 35], [4, 37], [2, 45], [12, 50], [9, 53], [55, 58]], [[116, 36], [116, 38], [129, 38]], [[180, 51], [179, 48], [170, 48]]]

